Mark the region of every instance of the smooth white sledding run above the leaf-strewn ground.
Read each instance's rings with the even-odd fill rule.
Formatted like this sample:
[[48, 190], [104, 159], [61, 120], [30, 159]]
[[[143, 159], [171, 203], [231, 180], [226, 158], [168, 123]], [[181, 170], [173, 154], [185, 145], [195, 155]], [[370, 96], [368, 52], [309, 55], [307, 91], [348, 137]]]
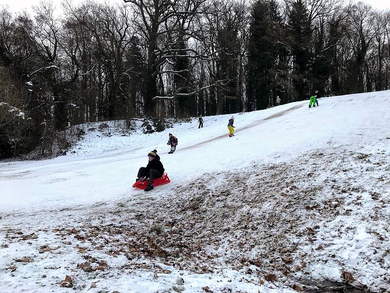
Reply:
[[[76, 153], [50, 162], [1, 165], [3, 190], [12, 190], [12, 197], [6, 197], [2, 206], [7, 209], [14, 204], [18, 208], [24, 205], [29, 209], [42, 208], [42, 205], [50, 208], [75, 201], [104, 200], [107, 194], [112, 199], [139, 193], [126, 182], [132, 183], [138, 168], [146, 165], [146, 155], [154, 148], [173, 182], [182, 183], [205, 172], [245, 168], [254, 162], [275, 163], [275, 156], [282, 160], [326, 148], [329, 144], [353, 145], [365, 139], [378, 140], [389, 122], [389, 102], [383, 103], [382, 96], [386, 92], [379, 95], [326, 98], [323, 105], [310, 110], [306, 102], [298, 102], [235, 115], [236, 136], [231, 139], [224, 135], [231, 115], [205, 117], [203, 129], [197, 129], [192, 123], [130, 138], [97, 138], [91, 137], [92, 133], [82, 141], [80, 155]], [[299, 107], [283, 115], [283, 111], [296, 106]], [[269, 117], [272, 118], [264, 120]], [[240, 130], [245, 127], [248, 128]], [[169, 132], [179, 139], [175, 156], [165, 155], [169, 151], [166, 146]], [[132, 143], [125, 144], [125, 139]], [[212, 141], [196, 146], [209, 140]]]

